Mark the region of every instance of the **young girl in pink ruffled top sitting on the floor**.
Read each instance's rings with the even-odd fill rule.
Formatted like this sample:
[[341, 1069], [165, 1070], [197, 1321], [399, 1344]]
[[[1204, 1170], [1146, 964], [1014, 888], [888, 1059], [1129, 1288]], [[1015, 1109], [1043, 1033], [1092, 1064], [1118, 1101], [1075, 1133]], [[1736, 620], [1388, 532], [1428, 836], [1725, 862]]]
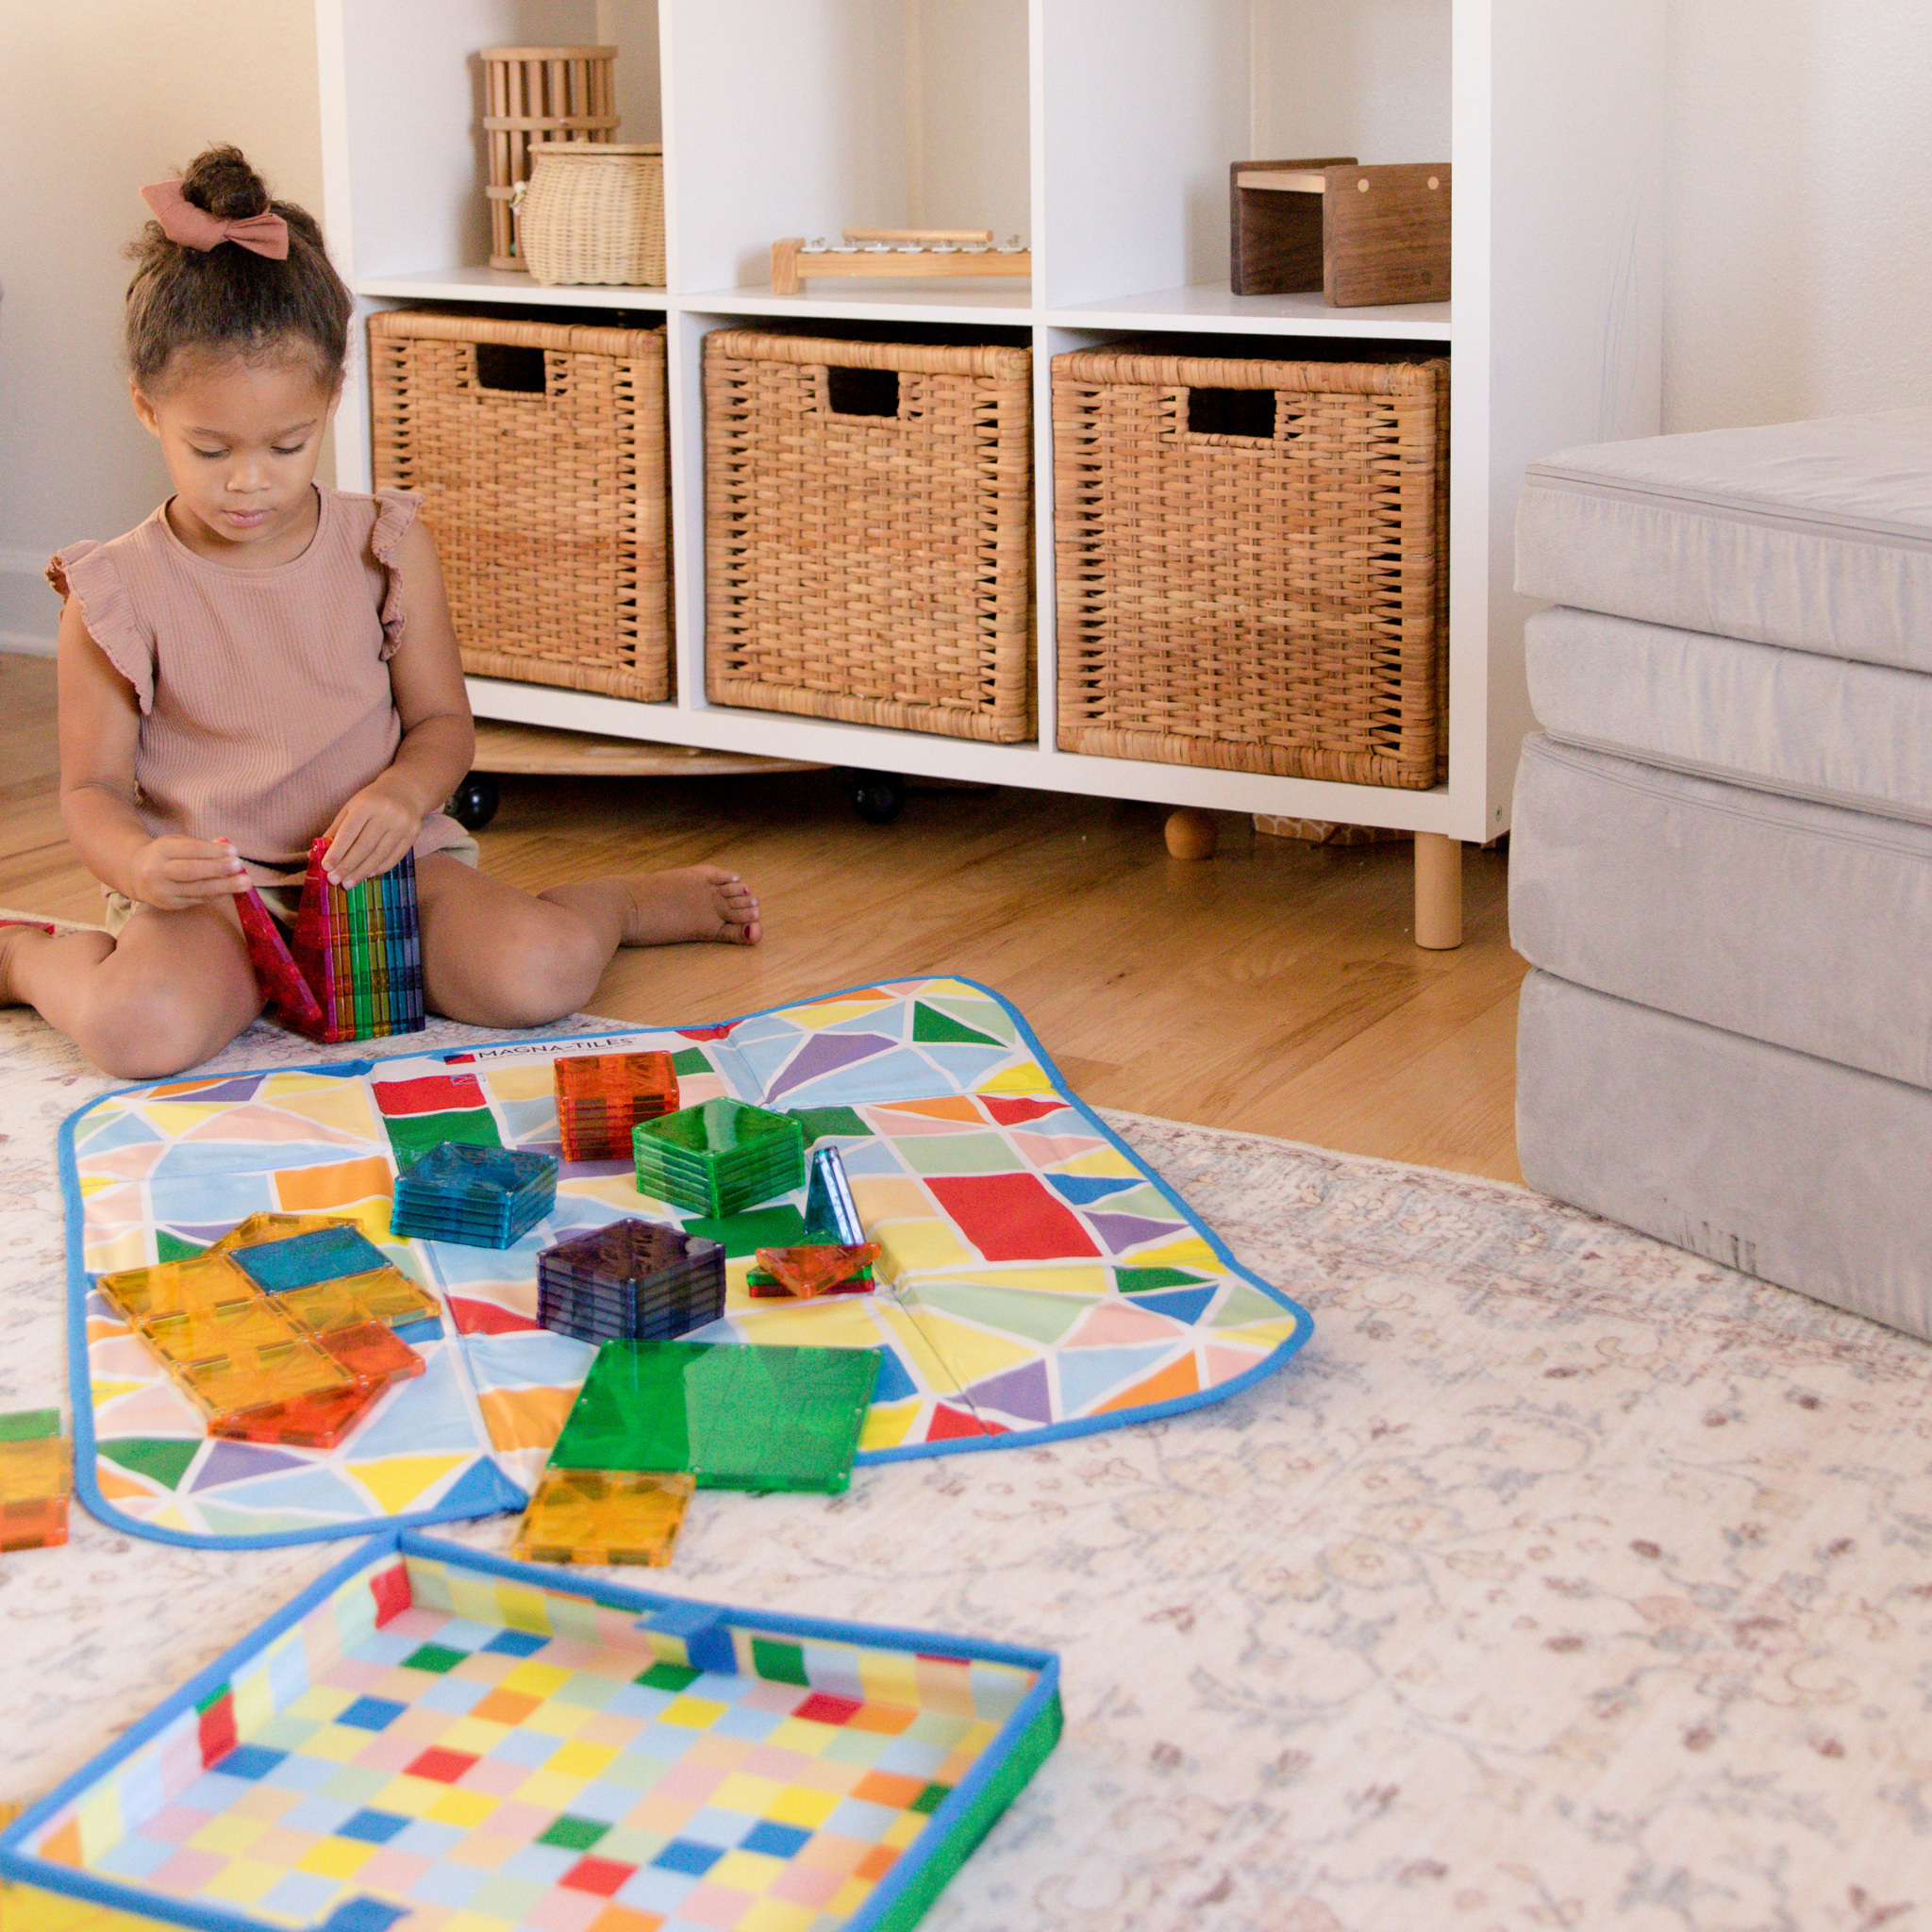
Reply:
[[232, 147], [143, 199], [129, 386], [174, 495], [48, 570], [62, 819], [108, 933], [0, 929], [0, 1003], [120, 1078], [207, 1059], [263, 1003], [234, 895], [253, 881], [292, 923], [321, 835], [338, 885], [415, 852], [425, 1003], [452, 1020], [560, 1018], [620, 945], [755, 945], [757, 904], [717, 866], [535, 898], [477, 871], [439, 810], [473, 730], [417, 498], [315, 481], [350, 321], [321, 228]]

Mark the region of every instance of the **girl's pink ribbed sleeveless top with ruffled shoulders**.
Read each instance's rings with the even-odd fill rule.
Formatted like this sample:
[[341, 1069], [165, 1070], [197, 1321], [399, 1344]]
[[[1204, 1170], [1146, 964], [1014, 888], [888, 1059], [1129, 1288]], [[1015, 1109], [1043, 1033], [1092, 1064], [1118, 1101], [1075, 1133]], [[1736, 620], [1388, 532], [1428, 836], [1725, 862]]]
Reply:
[[[267, 570], [197, 556], [166, 506], [48, 566], [141, 705], [135, 810], [155, 837], [232, 838], [257, 885], [299, 879], [309, 842], [402, 742], [388, 659], [404, 641], [402, 491], [315, 485], [309, 547]], [[417, 856], [468, 833], [433, 811]]]

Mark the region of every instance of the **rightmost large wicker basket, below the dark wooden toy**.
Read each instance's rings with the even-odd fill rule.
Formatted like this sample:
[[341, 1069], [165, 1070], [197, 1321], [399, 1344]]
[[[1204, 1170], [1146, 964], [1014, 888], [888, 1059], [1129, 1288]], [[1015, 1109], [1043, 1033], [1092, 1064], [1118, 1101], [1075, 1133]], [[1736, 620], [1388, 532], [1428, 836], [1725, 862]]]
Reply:
[[1449, 363], [1151, 348], [1053, 359], [1061, 750], [1439, 782]]

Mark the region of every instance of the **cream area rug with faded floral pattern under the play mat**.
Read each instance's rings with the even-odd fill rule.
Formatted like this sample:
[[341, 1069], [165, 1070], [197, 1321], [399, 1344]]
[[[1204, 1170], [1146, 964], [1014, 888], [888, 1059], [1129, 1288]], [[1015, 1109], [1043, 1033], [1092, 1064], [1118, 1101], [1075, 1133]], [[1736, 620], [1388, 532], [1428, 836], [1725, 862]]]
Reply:
[[[104, 1084], [0, 1012], [0, 1406], [62, 1385], [52, 1130]], [[1066, 1737], [929, 1926], [1932, 1918], [1932, 1350], [1519, 1188], [1109, 1121], [1314, 1310], [1285, 1372], [842, 1497], [707, 1492], [645, 1578], [1063, 1654]], [[0, 1799], [336, 1555], [75, 1515], [0, 1559]]]

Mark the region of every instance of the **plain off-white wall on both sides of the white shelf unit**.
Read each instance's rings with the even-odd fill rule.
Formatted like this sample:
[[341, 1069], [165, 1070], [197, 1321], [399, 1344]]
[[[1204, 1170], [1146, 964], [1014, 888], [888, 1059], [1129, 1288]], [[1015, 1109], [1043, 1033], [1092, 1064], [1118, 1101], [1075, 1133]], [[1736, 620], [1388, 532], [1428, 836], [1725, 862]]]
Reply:
[[[1932, 402], [1928, 75], [1928, 0], [1671, 0], [1669, 429]], [[313, 0], [0, 4], [0, 645], [31, 645], [46, 553], [162, 493], [118, 375], [135, 189], [228, 139], [321, 205]]]

